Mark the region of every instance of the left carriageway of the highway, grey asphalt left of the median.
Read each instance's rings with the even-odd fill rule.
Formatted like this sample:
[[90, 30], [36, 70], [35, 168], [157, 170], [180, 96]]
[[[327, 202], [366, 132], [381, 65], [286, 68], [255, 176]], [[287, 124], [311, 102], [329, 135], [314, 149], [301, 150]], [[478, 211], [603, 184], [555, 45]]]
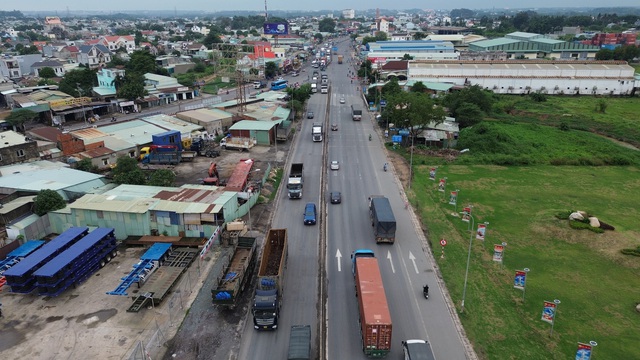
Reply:
[[[307, 72], [310, 70], [307, 68]], [[303, 73], [304, 74], [304, 73]], [[302, 81], [302, 76], [285, 77], [290, 83]], [[296, 80], [301, 79], [301, 80]], [[271, 360], [285, 359], [289, 346], [289, 329], [291, 325], [311, 325], [312, 335], [317, 339], [319, 286], [319, 254], [320, 229], [324, 225], [319, 221], [315, 226], [304, 225], [302, 213], [308, 202], [318, 206], [322, 218], [321, 176], [326, 168], [323, 166], [324, 142], [313, 142], [311, 125], [321, 122], [328, 116], [326, 94], [315, 94], [309, 100], [308, 109], [315, 114], [314, 119], [302, 120], [302, 126], [296, 134], [296, 143], [289, 152], [283, 174], [282, 190], [278, 199], [277, 212], [273, 217], [271, 228], [287, 228], [289, 236], [289, 258], [285, 272], [284, 300], [281, 307], [279, 329], [277, 331], [256, 331], [253, 329], [253, 318], [247, 317], [242, 346], [238, 359]], [[326, 131], [325, 131], [326, 134]], [[287, 197], [286, 178], [290, 164], [304, 163], [304, 188], [302, 199], [290, 200]], [[317, 346], [313, 346], [317, 354]]]

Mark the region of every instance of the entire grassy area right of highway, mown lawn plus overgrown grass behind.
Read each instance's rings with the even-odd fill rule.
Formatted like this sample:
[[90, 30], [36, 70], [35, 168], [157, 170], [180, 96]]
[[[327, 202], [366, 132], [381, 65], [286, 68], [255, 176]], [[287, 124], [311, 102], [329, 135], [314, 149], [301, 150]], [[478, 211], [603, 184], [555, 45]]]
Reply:
[[[460, 318], [474, 349], [481, 359], [573, 359], [578, 342], [594, 340], [594, 359], [640, 358], [640, 257], [620, 253], [640, 246], [640, 151], [605, 138], [640, 144], [640, 101], [606, 98], [605, 113], [598, 113], [600, 98], [498, 99], [497, 114], [460, 132], [459, 148], [470, 151], [457, 160], [415, 151], [409, 191], [458, 312], [473, 231]], [[408, 160], [405, 149], [396, 151]], [[631, 165], [607, 166], [616, 163]], [[448, 178], [446, 194], [429, 180], [432, 166], [438, 180]], [[455, 189], [457, 208], [448, 204]], [[473, 229], [456, 216], [467, 205]], [[555, 216], [573, 210], [615, 230], [575, 230]], [[484, 243], [475, 240], [483, 222]], [[441, 238], [448, 241], [444, 257]], [[500, 264], [492, 256], [502, 242]], [[525, 294], [513, 288], [515, 271], [524, 268], [531, 269]], [[543, 301], [554, 299], [561, 303], [551, 335], [541, 316]]]

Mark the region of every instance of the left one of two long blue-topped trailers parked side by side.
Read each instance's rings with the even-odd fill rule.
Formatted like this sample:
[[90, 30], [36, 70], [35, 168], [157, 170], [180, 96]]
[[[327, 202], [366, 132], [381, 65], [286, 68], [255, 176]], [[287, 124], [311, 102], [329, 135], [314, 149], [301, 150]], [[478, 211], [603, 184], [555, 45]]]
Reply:
[[7, 285], [11, 286], [11, 292], [28, 294], [33, 291], [36, 287], [33, 273], [88, 233], [88, 227], [72, 227], [5, 271], [4, 276]]

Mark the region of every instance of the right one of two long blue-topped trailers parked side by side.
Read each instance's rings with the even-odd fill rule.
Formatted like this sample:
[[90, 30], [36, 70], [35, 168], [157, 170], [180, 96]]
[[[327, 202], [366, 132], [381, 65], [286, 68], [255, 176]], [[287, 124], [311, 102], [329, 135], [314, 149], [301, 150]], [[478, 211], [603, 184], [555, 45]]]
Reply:
[[97, 228], [38, 269], [33, 275], [40, 295], [58, 296], [116, 257], [114, 232], [113, 228]]

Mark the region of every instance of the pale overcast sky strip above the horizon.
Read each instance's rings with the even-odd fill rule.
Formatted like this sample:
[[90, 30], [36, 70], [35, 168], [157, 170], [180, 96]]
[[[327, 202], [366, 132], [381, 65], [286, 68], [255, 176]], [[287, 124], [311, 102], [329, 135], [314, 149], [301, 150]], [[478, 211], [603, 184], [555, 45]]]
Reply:
[[[4, 1], [3, 1], [4, 3]], [[614, 7], [614, 6], [640, 6], [638, 0], [536, 0], [536, 1], [514, 1], [514, 0], [493, 0], [483, 2], [478, 0], [450, 0], [443, 3], [427, 2], [421, 0], [267, 0], [268, 9], [273, 10], [343, 10], [343, 9], [410, 9], [410, 8], [438, 8], [438, 9], [487, 9], [496, 8], [530, 8], [530, 7]], [[105, 11], [119, 12], [123, 10], [200, 10], [214, 12], [217, 10], [253, 10], [263, 11], [264, 0], [108, 0], [108, 1], [88, 1], [88, 0], [26, 0], [14, 1], [11, 4], [4, 4], [2, 10], [23, 10], [42, 11], [58, 10], [66, 11]], [[62, 15], [62, 14], [59, 14]]]

